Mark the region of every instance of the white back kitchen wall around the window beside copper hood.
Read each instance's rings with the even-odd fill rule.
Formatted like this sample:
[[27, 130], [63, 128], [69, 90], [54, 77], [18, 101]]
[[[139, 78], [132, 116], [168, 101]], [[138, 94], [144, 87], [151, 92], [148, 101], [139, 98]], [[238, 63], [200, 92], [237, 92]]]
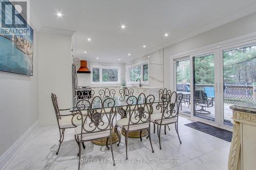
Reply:
[[[74, 58], [74, 64], [76, 65], [76, 69], [79, 69], [80, 67], [80, 60], [78, 58]], [[122, 81], [125, 81], [125, 69], [124, 69], [124, 64], [123, 63], [107, 63], [107, 62], [90, 62], [87, 61], [87, 67], [90, 69], [90, 66], [116, 66], [116, 67], [121, 67], [120, 70], [120, 84], [90, 84], [90, 76], [91, 74], [77, 74], [77, 86], [92, 86], [92, 87], [97, 87], [97, 86], [120, 86], [122, 85]], [[92, 71], [92, 70], [91, 70]]]

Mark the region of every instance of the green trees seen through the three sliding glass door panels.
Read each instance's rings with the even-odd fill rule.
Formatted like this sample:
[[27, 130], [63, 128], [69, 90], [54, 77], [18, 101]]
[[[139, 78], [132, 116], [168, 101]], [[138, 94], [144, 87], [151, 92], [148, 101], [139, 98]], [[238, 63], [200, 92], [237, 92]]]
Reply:
[[[195, 83], [213, 84], [214, 55], [194, 58]], [[189, 60], [177, 63], [177, 84], [190, 82]], [[223, 52], [224, 83], [251, 83], [256, 80], [256, 46]]]

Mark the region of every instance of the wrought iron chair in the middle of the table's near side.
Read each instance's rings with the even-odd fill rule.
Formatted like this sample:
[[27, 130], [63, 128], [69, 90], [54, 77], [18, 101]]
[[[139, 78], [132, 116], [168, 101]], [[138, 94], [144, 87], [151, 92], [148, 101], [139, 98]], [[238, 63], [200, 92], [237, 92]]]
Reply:
[[[125, 132], [125, 148], [126, 148], [126, 160], [127, 156], [127, 140], [128, 133], [134, 131], [140, 131], [140, 140], [142, 141], [141, 133], [142, 130], [147, 130], [148, 138], [151, 143], [152, 152], [154, 153], [152, 142], [151, 142], [151, 113], [153, 112], [153, 103], [155, 101], [154, 95], [145, 96], [144, 93], [139, 94], [138, 98], [136, 96], [130, 96], [127, 98], [127, 109], [129, 117], [121, 118], [117, 120], [115, 126], [115, 132], [118, 134], [119, 143], [121, 140], [121, 136], [117, 131], [117, 128], [120, 127]], [[135, 107], [134, 107], [135, 106]], [[119, 143], [117, 144], [119, 146]]]

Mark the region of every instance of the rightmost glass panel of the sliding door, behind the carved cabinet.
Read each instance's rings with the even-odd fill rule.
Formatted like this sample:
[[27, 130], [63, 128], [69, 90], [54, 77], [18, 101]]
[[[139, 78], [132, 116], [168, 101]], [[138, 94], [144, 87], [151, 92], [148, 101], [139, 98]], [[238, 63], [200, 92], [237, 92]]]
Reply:
[[223, 48], [223, 124], [232, 126], [230, 105], [255, 100], [256, 44]]

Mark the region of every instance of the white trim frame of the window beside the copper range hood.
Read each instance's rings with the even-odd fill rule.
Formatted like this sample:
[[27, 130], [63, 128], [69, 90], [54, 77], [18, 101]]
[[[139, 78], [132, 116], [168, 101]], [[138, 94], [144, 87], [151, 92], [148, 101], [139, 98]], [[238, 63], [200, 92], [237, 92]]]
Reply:
[[[93, 68], [99, 68], [99, 82], [93, 82]], [[115, 67], [115, 66], [95, 66], [95, 65], [90, 65], [90, 69], [92, 71], [91, 73], [91, 78], [90, 78], [90, 83], [91, 84], [120, 84], [120, 70], [121, 67]], [[117, 82], [102, 82], [102, 69], [117, 69], [118, 70], [118, 81]]]

